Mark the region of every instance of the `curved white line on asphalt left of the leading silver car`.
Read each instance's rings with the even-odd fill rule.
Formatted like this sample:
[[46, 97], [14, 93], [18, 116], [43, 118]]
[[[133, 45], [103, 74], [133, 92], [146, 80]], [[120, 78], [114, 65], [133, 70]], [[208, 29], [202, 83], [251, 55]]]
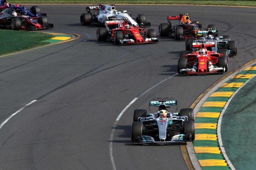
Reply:
[[113, 137], [114, 137], [114, 133], [115, 133], [115, 128], [118, 124], [118, 121], [120, 120], [120, 118], [122, 117], [122, 115], [125, 113], [125, 111], [136, 101], [138, 100], [140, 97], [142, 97], [144, 94], [146, 94], [147, 92], [151, 91], [154, 87], [164, 83], [166, 80], [174, 77], [178, 75], [178, 73], [175, 73], [165, 79], [163, 79], [162, 81], [159, 81], [157, 84], [155, 84], [154, 86], [150, 87], [149, 89], [147, 89], [146, 91], [144, 91], [143, 93], [141, 93], [138, 97], [135, 97], [127, 106], [125, 106], [125, 108], [121, 111], [121, 113], [117, 116], [117, 119], [115, 120], [115, 124], [113, 125], [112, 128], [112, 132], [110, 135], [110, 144], [109, 144], [109, 155], [110, 155], [110, 160], [111, 160], [111, 164], [112, 164], [112, 169], [113, 170], [117, 170], [116, 166], [115, 166], [115, 161], [114, 161], [114, 156], [113, 156]]

